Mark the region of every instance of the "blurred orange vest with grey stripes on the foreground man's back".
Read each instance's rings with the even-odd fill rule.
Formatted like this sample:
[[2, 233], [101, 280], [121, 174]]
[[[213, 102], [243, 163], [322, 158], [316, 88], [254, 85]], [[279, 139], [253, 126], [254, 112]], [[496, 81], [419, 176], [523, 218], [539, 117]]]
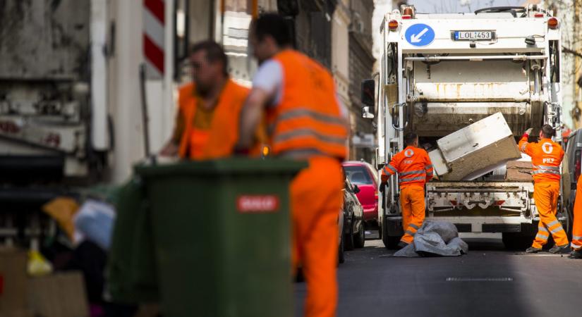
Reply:
[[281, 103], [267, 109], [272, 153], [292, 159], [344, 160], [348, 130], [332, 76], [298, 51], [281, 51], [274, 60], [281, 63], [284, 78]]

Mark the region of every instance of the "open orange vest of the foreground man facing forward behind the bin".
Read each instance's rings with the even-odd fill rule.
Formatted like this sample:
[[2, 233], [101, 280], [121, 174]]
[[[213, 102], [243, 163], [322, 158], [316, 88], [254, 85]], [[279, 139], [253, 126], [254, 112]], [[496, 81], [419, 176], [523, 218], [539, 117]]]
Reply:
[[228, 80], [217, 101], [209, 130], [194, 126], [198, 107], [195, 85], [181, 87], [178, 97], [179, 111], [185, 120], [178, 154], [194, 160], [219, 159], [230, 156], [238, 140], [238, 121], [249, 89]]

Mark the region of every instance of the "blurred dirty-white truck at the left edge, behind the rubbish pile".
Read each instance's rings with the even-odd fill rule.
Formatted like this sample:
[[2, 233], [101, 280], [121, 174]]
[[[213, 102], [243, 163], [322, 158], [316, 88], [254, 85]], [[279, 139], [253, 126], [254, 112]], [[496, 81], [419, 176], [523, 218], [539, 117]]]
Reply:
[[[28, 244], [54, 230], [40, 213], [42, 204], [104, 181], [112, 166], [125, 166], [127, 175], [143, 156], [138, 43], [147, 33], [142, 25], [156, 16], [144, 13], [142, 23], [140, 9], [104, 0], [0, 1], [2, 242]], [[160, 26], [155, 35], [165, 41], [164, 34], [171, 34], [166, 28], [174, 25], [159, 21], [163, 16], [154, 21]], [[166, 69], [174, 58], [168, 53], [162, 56]], [[131, 70], [121, 69], [129, 63]], [[155, 109], [171, 113], [174, 87], [164, 85], [164, 78], [150, 80], [147, 94]], [[171, 115], [150, 115], [171, 124]]]

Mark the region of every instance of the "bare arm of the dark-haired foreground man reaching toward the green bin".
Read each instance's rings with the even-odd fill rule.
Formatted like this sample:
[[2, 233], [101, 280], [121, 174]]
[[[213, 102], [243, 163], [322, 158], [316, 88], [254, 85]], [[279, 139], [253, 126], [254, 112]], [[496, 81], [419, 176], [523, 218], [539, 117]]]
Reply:
[[272, 99], [269, 92], [262, 88], [253, 88], [241, 111], [241, 122], [239, 125], [238, 142], [236, 149], [248, 150], [253, 147], [255, 132], [262, 118], [262, 110]]

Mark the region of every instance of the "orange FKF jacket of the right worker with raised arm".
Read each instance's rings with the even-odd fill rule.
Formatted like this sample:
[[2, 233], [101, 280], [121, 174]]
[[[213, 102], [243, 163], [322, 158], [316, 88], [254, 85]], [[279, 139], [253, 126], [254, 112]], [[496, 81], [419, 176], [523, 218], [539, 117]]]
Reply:
[[528, 136], [523, 135], [519, 149], [531, 156], [534, 182], [559, 182], [559, 165], [564, 159], [564, 150], [552, 139], [540, 139], [537, 143], [528, 143]]

